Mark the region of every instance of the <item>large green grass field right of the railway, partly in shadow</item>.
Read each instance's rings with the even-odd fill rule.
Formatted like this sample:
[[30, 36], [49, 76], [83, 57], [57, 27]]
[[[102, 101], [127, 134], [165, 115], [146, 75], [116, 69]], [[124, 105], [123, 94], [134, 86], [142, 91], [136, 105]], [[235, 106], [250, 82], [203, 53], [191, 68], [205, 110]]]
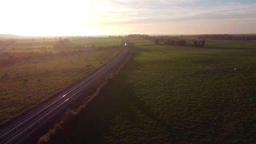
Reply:
[[130, 63], [50, 143], [256, 142], [256, 41], [131, 43]]

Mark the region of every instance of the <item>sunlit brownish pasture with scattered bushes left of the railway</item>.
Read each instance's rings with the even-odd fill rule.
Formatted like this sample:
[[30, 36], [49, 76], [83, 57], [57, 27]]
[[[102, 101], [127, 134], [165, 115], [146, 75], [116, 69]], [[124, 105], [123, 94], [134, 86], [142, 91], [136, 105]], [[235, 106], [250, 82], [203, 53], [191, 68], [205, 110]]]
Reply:
[[[76, 44], [76, 41], [74, 43]], [[79, 40], [79, 45], [82, 44], [92, 44], [96, 47], [90, 51], [86, 48], [79, 51], [65, 49], [66, 52], [61, 55], [53, 54], [44, 59], [27, 59], [11, 65], [0, 65], [0, 123], [31, 108], [108, 62], [120, 50], [118, 47], [121, 45], [121, 39]], [[24, 46], [20, 49], [24, 50]], [[13, 51], [17, 54], [19, 47], [16, 46]], [[40, 54], [39, 48], [35, 51]], [[31, 51], [25, 52], [30, 54]], [[28, 81], [25, 82], [24, 79]]]

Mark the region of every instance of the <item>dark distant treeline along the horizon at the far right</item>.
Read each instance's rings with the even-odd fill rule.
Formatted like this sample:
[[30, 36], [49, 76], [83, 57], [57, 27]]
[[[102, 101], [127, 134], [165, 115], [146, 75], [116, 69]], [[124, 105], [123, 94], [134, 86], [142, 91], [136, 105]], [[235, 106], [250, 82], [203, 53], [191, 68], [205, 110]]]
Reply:
[[198, 35], [198, 39], [256, 40], [256, 35]]

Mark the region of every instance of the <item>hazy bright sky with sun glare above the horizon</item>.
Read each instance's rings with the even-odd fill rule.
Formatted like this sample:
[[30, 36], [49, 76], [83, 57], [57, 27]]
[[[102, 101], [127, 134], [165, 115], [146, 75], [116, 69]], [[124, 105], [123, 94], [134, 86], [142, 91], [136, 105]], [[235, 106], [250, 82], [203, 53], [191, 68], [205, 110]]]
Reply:
[[1, 0], [22, 36], [256, 33], [256, 0]]

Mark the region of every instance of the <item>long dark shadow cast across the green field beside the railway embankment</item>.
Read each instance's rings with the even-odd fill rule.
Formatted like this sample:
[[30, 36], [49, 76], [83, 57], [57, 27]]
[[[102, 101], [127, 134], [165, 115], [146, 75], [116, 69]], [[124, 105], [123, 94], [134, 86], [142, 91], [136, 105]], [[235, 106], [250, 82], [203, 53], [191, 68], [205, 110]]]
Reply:
[[[138, 56], [140, 52], [141, 49], [136, 48], [135, 56]], [[104, 143], [106, 142], [106, 135], [111, 133], [111, 126], [115, 118], [121, 117], [136, 123], [138, 120], [135, 115], [138, 115], [138, 111], [155, 121], [158, 126], [171, 131], [172, 128], [157, 118], [151, 111], [151, 107], [135, 95], [134, 86], [129, 80], [136, 69], [140, 69], [140, 66], [138, 62], [131, 59], [129, 64], [103, 89], [103, 95], [99, 95], [93, 104], [77, 117], [74, 124], [69, 125], [69, 128], [64, 130], [63, 135], [60, 136], [62, 139], [59, 137], [60, 141], [58, 140], [58, 142]], [[156, 131], [156, 133], [158, 132]], [[118, 134], [117, 137], [123, 136]], [[148, 139], [150, 138], [148, 137]]]

